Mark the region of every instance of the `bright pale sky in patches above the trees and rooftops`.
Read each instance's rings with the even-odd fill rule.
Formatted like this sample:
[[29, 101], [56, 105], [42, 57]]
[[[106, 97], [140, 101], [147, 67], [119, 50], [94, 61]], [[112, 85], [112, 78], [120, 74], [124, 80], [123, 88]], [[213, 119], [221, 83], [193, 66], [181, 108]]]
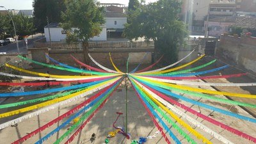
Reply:
[[[98, 0], [100, 3], [120, 3], [128, 6], [129, 0]], [[146, 3], [155, 2], [157, 0], [146, 0]], [[0, 6], [4, 6], [6, 9], [15, 10], [32, 10], [33, 0], [0, 0]], [[3, 8], [0, 8], [0, 10]]]

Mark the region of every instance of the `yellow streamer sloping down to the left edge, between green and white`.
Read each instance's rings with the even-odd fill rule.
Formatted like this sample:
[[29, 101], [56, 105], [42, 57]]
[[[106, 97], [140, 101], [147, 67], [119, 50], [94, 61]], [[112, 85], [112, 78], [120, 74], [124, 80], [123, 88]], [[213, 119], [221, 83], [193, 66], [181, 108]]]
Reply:
[[81, 93], [84, 93], [84, 92], [88, 92], [90, 90], [93, 90], [94, 88], [97, 88], [98, 86], [101, 86], [103, 84], [106, 84], [106, 83], [109, 83], [111, 81], [116, 81], [117, 79], [120, 79], [120, 77], [116, 77], [115, 79], [111, 79], [109, 81], [105, 81], [104, 83], [100, 83], [100, 84], [97, 84], [95, 86], [92, 86], [90, 88], [87, 88], [86, 90], [82, 90], [80, 92], [76, 92], [76, 93], [72, 93], [70, 95], [67, 95], [65, 97], [60, 97], [58, 99], [53, 99], [53, 100], [49, 100], [47, 102], [42, 102], [40, 104], [36, 104], [36, 105], [33, 105], [33, 106], [29, 106], [29, 107], [26, 107], [26, 108], [22, 108], [22, 109], [17, 109], [17, 110], [14, 110], [14, 111], [9, 111], [7, 113], [1, 113], [0, 114], [0, 118], [4, 118], [4, 117], [8, 117], [8, 116], [12, 116], [12, 115], [17, 115], [19, 113], [24, 113], [26, 111], [31, 111], [33, 109], [38, 109], [38, 108], [42, 108], [44, 106], [49, 106], [50, 104], [56, 104], [57, 102], [61, 102], [63, 100], [67, 100], [67, 99], [70, 99], [72, 97], [75, 97], [76, 95], [79, 95]]

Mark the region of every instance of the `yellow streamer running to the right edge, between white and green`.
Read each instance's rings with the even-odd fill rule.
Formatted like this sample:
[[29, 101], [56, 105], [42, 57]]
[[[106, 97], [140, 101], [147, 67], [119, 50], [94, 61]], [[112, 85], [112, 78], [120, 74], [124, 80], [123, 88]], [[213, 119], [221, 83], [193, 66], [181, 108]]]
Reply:
[[[139, 76], [134, 76], [134, 77], [139, 78]], [[227, 96], [231, 96], [231, 97], [244, 97], [244, 98], [256, 99], [256, 95], [249, 95], [249, 94], [244, 94], [244, 93], [218, 92], [218, 91], [212, 91], [212, 90], [202, 90], [200, 88], [191, 88], [191, 87], [188, 87], [188, 86], [180, 86], [180, 85], [176, 85], [176, 84], [154, 81], [152, 79], [147, 79], [145, 77], [140, 77], [140, 79], [144, 79], [145, 81], [150, 81], [152, 83], [163, 84], [165, 86], [170, 86], [170, 87], [173, 87], [173, 88], [179, 88], [181, 90], [189, 90], [189, 91], [200, 92], [200, 93], [210, 93], [210, 94], [215, 94], [215, 95], [227, 95]]]

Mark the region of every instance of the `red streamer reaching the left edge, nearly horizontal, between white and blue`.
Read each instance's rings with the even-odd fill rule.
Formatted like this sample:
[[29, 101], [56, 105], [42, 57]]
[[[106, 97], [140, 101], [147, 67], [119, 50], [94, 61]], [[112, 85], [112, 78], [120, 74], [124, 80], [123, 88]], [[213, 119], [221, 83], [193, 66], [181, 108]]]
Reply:
[[108, 76], [108, 77], [97, 77], [93, 79], [82, 79], [82, 80], [77, 80], [77, 81], [49, 81], [49, 82], [38, 82], [38, 83], [0, 83], [0, 86], [44, 86], [46, 84], [49, 85], [58, 85], [58, 84], [68, 84], [68, 83], [74, 83], [74, 82], [79, 82], [79, 83], [88, 83], [92, 81], [100, 81], [103, 79], [109, 79], [111, 77], [115, 76]]

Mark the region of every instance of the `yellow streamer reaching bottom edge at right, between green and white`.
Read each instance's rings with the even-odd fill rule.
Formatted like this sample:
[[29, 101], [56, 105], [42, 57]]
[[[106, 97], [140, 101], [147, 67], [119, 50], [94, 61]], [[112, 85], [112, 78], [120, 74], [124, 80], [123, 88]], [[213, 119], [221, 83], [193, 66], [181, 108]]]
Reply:
[[159, 102], [158, 100], [156, 100], [154, 97], [152, 97], [150, 95], [150, 93], [148, 93], [146, 90], [144, 90], [143, 88], [141, 88], [141, 86], [139, 86], [137, 83], [136, 85], [152, 100], [154, 101], [157, 106], [160, 106], [162, 109], [164, 109], [164, 111], [166, 111], [170, 116], [172, 116], [174, 118], [174, 120], [176, 120], [177, 122], [179, 122], [180, 125], [182, 125], [184, 128], [186, 128], [189, 132], [191, 132], [191, 134], [193, 134], [194, 136], [196, 136], [196, 138], [198, 138], [199, 140], [202, 140], [204, 143], [211, 143], [211, 141], [209, 141], [207, 138], [205, 138], [202, 134], [200, 134], [199, 132], [195, 131], [195, 129], [193, 129], [192, 127], [190, 127], [188, 124], [186, 124], [186, 122], [184, 122], [183, 120], [181, 120], [177, 115], [175, 115], [174, 113], [172, 113], [172, 111], [170, 111], [168, 108], [166, 108], [165, 106], [163, 106], [163, 104], [161, 104], [161, 102]]

